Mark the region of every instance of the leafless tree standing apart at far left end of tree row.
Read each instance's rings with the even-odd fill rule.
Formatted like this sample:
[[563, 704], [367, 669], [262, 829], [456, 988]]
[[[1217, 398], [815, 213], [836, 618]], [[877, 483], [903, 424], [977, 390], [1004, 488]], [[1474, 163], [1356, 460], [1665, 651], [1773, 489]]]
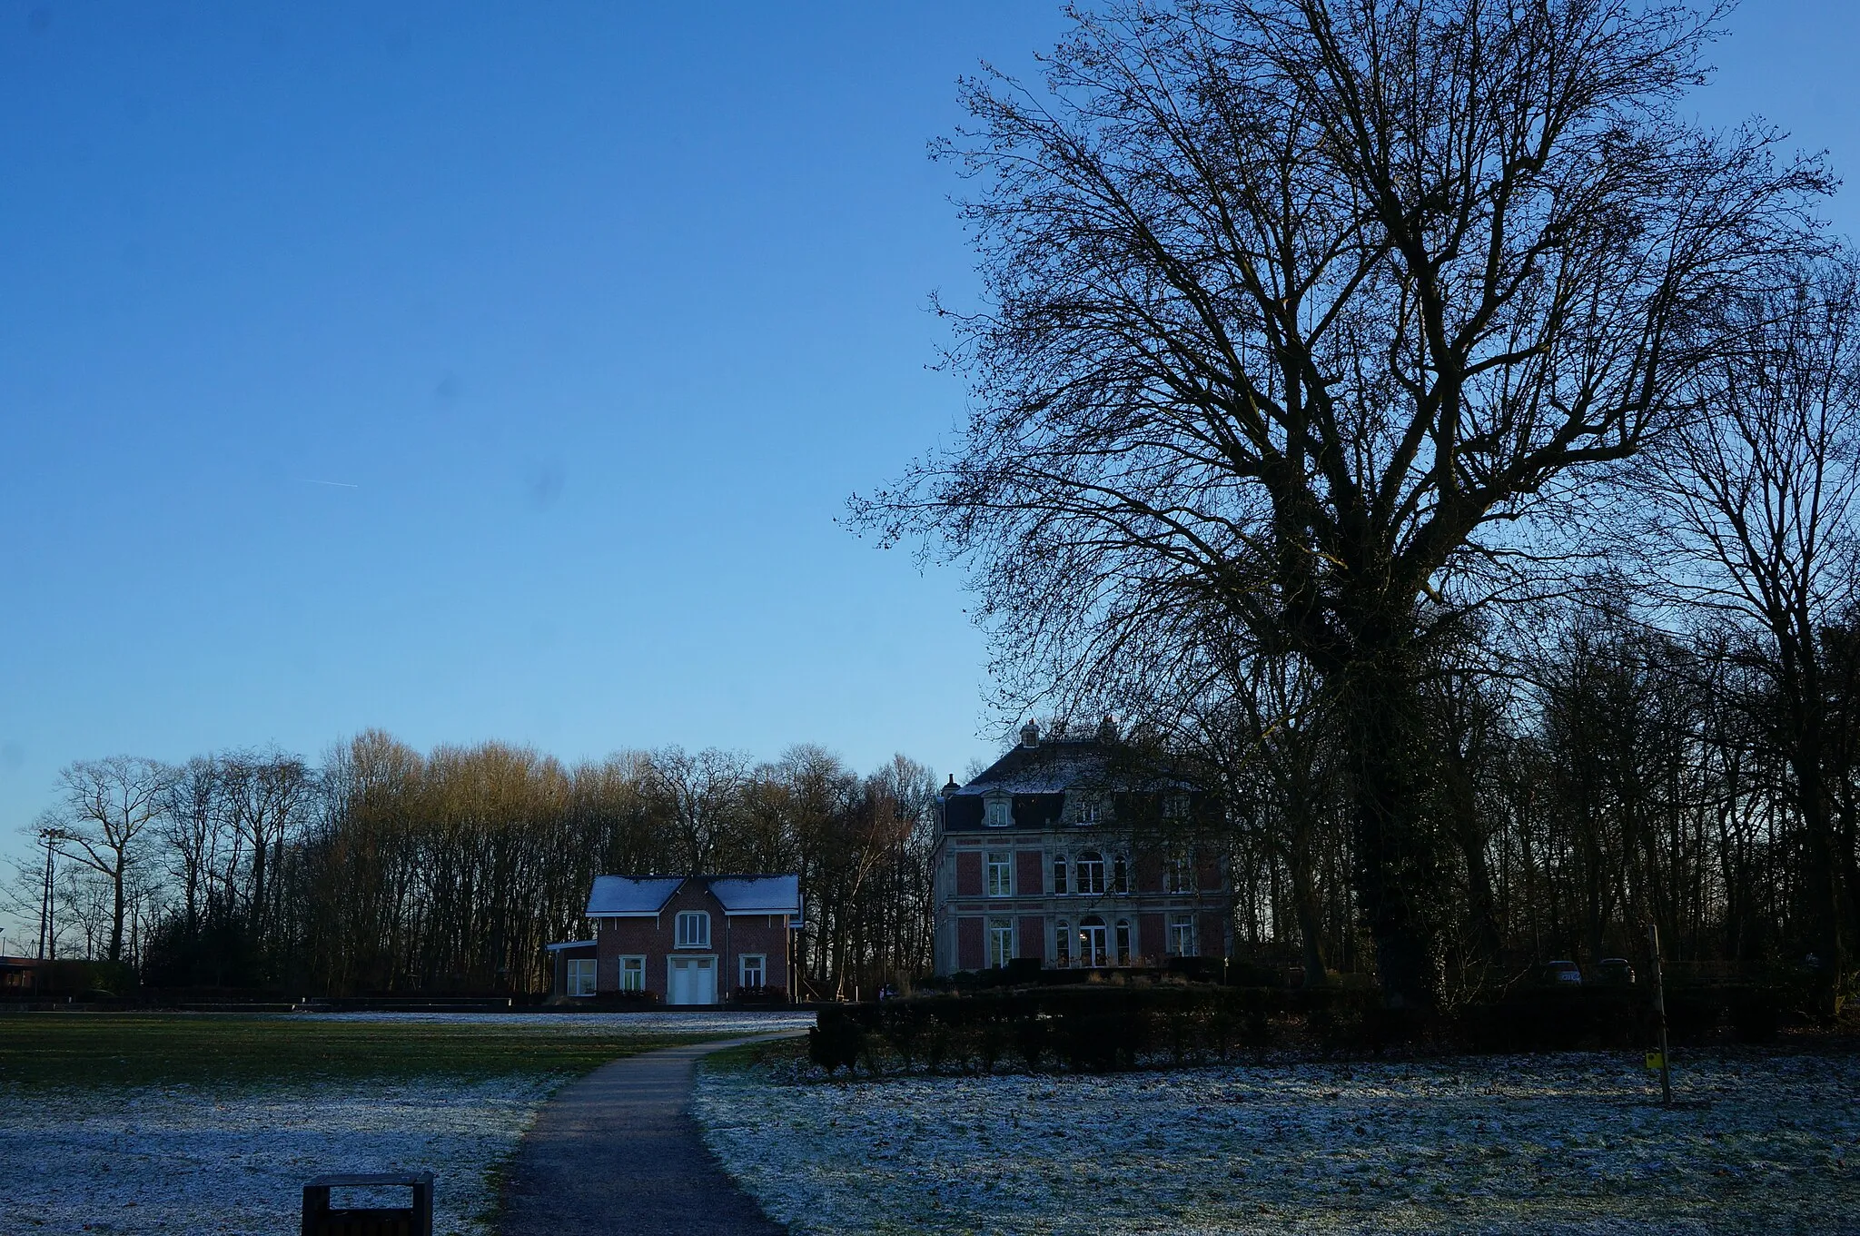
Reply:
[[[82, 760], [58, 773], [60, 803], [54, 814], [63, 831], [60, 848], [108, 885], [110, 961], [123, 961], [130, 868], [141, 857], [143, 833], [162, 814], [171, 782], [173, 769], [166, 764], [126, 755]], [[91, 901], [95, 898], [87, 898], [86, 905]]]

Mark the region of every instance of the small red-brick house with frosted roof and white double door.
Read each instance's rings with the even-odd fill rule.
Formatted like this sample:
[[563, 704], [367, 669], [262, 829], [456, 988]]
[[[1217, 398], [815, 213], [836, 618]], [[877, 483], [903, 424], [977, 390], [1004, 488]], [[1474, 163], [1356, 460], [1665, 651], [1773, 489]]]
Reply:
[[556, 993], [670, 1006], [792, 998], [798, 875], [595, 875], [591, 940], [551, 944]]

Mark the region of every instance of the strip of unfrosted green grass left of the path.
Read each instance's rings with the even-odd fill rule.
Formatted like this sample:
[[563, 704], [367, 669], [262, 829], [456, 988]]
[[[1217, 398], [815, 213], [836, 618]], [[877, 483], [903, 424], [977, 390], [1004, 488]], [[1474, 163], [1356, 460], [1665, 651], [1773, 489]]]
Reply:
[[329, 1022], [290, 1015], [0, 1017], [0, 1085], [255, 1085], [324, 1078], [578, 1074], [619, 1056], [725, 1035], [562, 1033], [495, 1022]]

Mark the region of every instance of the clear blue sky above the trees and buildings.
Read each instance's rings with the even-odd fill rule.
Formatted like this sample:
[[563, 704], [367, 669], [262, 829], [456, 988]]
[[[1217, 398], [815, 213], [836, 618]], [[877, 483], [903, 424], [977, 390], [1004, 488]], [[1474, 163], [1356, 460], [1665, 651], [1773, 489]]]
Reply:
[[[1860, 164], [1854, 9], [1730, 26], [1702, 113]], [[0, 855], [71, 760], [370, 725], [991, 751], [960, 576], [833, 520], [962, 414], [954, 78], [1060, 30], [0, 0]]]

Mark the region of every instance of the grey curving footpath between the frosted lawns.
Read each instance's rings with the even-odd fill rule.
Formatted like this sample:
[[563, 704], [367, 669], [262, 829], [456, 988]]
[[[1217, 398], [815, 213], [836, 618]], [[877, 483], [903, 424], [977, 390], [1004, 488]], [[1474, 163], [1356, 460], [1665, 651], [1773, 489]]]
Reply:
[[699, 1056], [766, 1033], [627, 1056], [543, 1104], [504, 1177], [504, 1236], [779, 1236], [690, 1113]]

